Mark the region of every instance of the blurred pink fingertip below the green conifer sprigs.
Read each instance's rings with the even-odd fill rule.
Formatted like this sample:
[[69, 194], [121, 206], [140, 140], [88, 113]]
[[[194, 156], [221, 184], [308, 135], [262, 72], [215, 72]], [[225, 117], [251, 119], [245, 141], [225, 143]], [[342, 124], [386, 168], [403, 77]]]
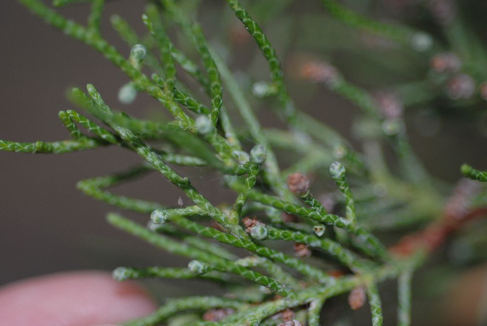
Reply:
[[50, 274], [0, 288], [0, 325], [107, 325], [154, 309], [135, 282], [116, 282], [101, 271]]

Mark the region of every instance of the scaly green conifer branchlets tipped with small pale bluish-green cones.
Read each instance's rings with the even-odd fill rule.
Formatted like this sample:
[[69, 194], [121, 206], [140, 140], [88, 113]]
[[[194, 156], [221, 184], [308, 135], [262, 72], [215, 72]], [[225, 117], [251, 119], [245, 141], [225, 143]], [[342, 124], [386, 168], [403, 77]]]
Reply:
[[[277, 111], [286, 129], [262, 127], [245, 88], [239, 85], [225, 60], [208, 45], [203, 29], [186, 16], [177, 1], [150, 2], [142, 15], [148, 30], [145, 37], [139, 37], [121, 17], [112, 17], [113, 28], [131, 47], [128, 58], [101, 36], [103, 0], [92, 1], [87, 27], [64, 18], [39, 0], [20, 2], [48, 24], [93, 47], [126, 73], [131, 82], [120, 94], [123, 101], [130, 102], [135, 92], [145, 92], [174, 119], [159, 123], [113, 111], [95, 87], [88, 84], [87, 94], [73, 89], [70, 99], [104, 127], [74, 110], [67, 110], [61, 111], [59, 118], [72, 140], [34, 143], [0, 140], [0, 150], [21, 153], [69, 153], [115, 145], [131, 150], [145, 161], [125, 173], [79, 181], [77, 187], [107, 204], [143, 213], [147, 218], [150, 214], [148, 227], [115, 213], [108, 214], [107, 219], [113, 226], [191, 261], [188, 268], [119, 267], [113, 271], [113, 277], [119, 281], [145, 277], [201, 278], [215, 282], [227, 296], [169, 300], [151, 315], [127, 325], [160, 325], [175, 315], [192, 320], [195, 311], [198, 317], [191, 325], [271, 325], [268, 323], [285, 322], [278, 313], [292, 308], [306, 316], [308, 326], [317, 326], [326, 299], [360, 286], [367, 289], [372, 325], [379, 326], [383, 316], [377, 285], [385, 279], [398, 280], [398, 325], [411, 324], [412, 273], [431, 248], [419, 241], [413, 252], [394, 255], [371, 230], [415, 227], [418, 220], [435, 219], [442, 211], [445, 198], [412, 152], [400, 113], [384, 110], [369, 91], [348, 81], [335, 67], [322, 63], [308, 66], [304, 77], [351, 101], [363, 114], [367, 123], [363, 123], [358, 134], [364, 140], [365, 150], [356, 152], [331, 127], [295, 107], [277, 51], [237, 0], [226, 2], [268, 63], [270, 88], [274, 90], [268, 95], [277, 97]], [[63, 6], [74, 2], [88, 1], [56, 0], [53, 4]], [[377, 22], [336, 1], [321, 2], [333, 17], [354, 28], [389, 38], [421, 55], [436, 51], [436, 42], [423, 32]], [[175, 23], [192, 44], [203, 69], [171, 40], [166, 32], [169, 23]], [[150, 77], [146, 75], [148, 71], [152, 72]], [[200, 96], [191, 94], [190, 83], [179, 76], [181, 72], [198, 83], [208, 96], [209, 106], [203, 104]], [[231, 105], [226, 100], [224, 103], [224, 87]], [[425, 96], [409, 103], [430, 99]], [[234, 126], [238, 119], [230, 117], [237, 113], [243, 123]], [[91, 136], [85, 135], [85, 130]], [[399, 173], [389, 171], [382, 154], [385, 146], [395, 151], [402, 168]], [[247, 148], [251, 148], [249, 153]], [[276, 149], [297, 153], [299, 159], [281, 171]], [[237, 193], [235, 202], [226, 205], [228, 209], [223, 209], [222, 203], [210, 202], [173, 166], [206, 166], [220, 173], [225, 185]], [[105, 190], [151, 170], [181, 189], [194, 205], [163, 207]], [[286, 185], [288, 174], [295, 172], [318, 176], [321, 173], [330, 181], [329, 174], [323, 171], [329, 171], [337, 185], [339, 192], [333, 197], [344, 199], [338, 199], [344, 216], [338, 211], [327, 211], [318, 196], [309, 190], [304, 175], [293, 174], [294, 181], [288, 179]], [[462, 167], [462, 173], [472, 179], [487, 180], [487, 173], [467, 165]], [[257, 217], [245, 218], [248, 212]], [[281, 218], [284, 214], [294, 216], [294, 220]], [[381, 216], [390, 218], [387, 223], [377, 222], [376, 218]], [[298, 255], [307, 255], [300, 254], [304, 252], [321, 259], [294, 257], [287, 247], [268, 246], [271, 240], [293, 242], [302, 250], [297, 250]], [[250, 255], [241, 257], [221, 244], [244, 249]], [[344, 275], [332, 275], [336, 268]], [[245, 296], [248, 289], [253, 292], [253, 299]], [[221, 320], [200, 318], [202, 312], [211, 308], [231, 308], [231, 313]]]

